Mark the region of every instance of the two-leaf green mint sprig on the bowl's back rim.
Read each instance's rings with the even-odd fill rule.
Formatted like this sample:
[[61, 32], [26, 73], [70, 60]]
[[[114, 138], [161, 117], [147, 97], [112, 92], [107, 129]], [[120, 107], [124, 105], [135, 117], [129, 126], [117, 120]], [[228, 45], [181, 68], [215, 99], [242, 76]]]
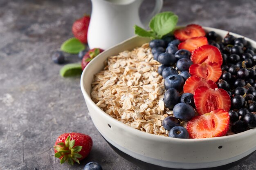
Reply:
[[151, 39], [161, 39], [164, 35], [171, 33], [175, 29], [177, 22], [178, 16], [172, 12], [158, 13], [150, 20], [149, 31], [135, 25], [135, 34]]

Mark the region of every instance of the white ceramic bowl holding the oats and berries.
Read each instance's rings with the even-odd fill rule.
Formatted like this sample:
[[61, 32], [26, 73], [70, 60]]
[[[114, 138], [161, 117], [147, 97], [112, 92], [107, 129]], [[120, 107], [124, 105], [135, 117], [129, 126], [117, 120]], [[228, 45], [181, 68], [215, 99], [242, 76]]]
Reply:
[[[204, 27], [224, 37], [228, 31]], [[230, 33], [235, 37], [242, 35]], [[256, 42], [245, 38], [254, 48]], [[235, 135], [207, 139], [176, 139], [141, 132], [117, 121], [103, 112], [90, 97], [93, 75], [103, 70], [103, 62], [121, 51], [132, 50], [149, 42], [148, 38], [133, 37], [95, 57], [81, 76], [81, 90], [90, 116], [101, 135], [120, 151], [135, 159], [166, 168], [210, 168], [222, 166], [256, 150], [256, 128]]]

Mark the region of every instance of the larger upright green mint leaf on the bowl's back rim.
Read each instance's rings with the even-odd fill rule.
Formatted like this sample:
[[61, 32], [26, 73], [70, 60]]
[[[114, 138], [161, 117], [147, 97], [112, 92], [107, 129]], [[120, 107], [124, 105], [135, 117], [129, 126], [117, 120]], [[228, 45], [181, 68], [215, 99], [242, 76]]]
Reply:
[[149, 23], [149, 28], [156, 34], [155, 38], [162, 38], [175, 29], [178, 16], [172, 12], [162, 12], [155, 15]]

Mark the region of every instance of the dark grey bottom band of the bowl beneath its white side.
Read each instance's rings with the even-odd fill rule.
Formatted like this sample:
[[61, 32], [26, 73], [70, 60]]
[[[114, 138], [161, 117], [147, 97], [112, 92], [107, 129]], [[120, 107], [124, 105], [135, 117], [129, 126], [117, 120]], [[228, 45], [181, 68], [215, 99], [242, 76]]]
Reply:
[[[103, 139], [105, 139], [105, 138], [103, 137]], [[147, 162], [141, 161], [139, 159], [135, 159], [134, 157], [131, 157], [130, 155], [122, 152], [121, 150], [119, 150], [118, 148], [116, 148], [115, 146], [110, 144], [106, 139], [105, 139], [105, 141], [109, 144], [109, 146], [115, 152], [117, 152], [118, 155], [120, 155], [124, 159], [134, 163], [135, 165], [137, 165], [137, 166], [139, 166], [141, 168], [144, 168], [145, 170], [185, 170], [185, 169], [166, 168], [166, 167], [157, 166], [157, 165], [154, 165], [154, 164], [151, 164], [151, 163], [147, 163]], [[238, 161], [235, 161], [235, 162], [223, 165], [223, 166], [213, 167], [213, 168], [202, 168], [200, 170], [228, 170], [228, 169], [233, 168], [234, 166], [238, 165], [240, 162], [244, 161], [248, 157], [250, 157], [254, 152], [252, 152], [251, 154], [247, 155], [246, 157], [243, 157], [242, 159], [239, 159]], [[198, 169], [190, 169], [190, 170], [198, 170]]]

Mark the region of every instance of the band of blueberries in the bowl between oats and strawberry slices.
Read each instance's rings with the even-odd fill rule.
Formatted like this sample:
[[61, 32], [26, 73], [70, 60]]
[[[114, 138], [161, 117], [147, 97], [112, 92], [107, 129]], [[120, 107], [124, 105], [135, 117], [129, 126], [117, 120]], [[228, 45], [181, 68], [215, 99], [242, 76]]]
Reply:
[[[149, 43], [154, 56], [162, 64], [158, 73], [163, 76], [166, 92], [164, 94], [164, 105], [173, 110], [173, 116], [168, 116], [163, 120], [163, 127], [169, 131], [169, 137], [189, 138], [188, 131], [180, 126], [180, 120], [188, 121], [195, 115], [195, 103], [193, 94], [183, 93], [183, 86], [191, 75], [189, 67], [193, 64], [190, 60], [191, 53], [185, 49], [178, 50], [180, 40], [172, 35], [167, 35], [163, 39], [152, 40]], [[179, 72], [180, 73], [179, 73]], [[186, 114], [184, 114], [186, 113]]]

